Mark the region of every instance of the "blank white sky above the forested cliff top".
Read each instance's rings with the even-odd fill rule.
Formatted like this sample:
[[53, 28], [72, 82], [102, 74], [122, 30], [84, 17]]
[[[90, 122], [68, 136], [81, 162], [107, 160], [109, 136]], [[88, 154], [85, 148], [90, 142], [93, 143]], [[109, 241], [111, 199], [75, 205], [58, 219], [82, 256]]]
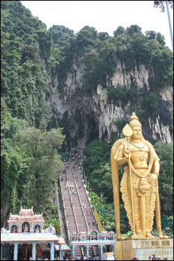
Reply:
[[[118, 26], [137, 24], [145, 31], [156, 31], [165, 37], [166, 46], [172, 49], [168, 15], [154, 8], [154, 1], [21, 1], [33, 16], [47, 24], [63, 25], [80, 31], [84, 26], [93, 26], [98, 32], [113, 36]], [[166, 4], [165, 4], [166, 7]], [[169, 8], [173, 27], [173, 10]]]

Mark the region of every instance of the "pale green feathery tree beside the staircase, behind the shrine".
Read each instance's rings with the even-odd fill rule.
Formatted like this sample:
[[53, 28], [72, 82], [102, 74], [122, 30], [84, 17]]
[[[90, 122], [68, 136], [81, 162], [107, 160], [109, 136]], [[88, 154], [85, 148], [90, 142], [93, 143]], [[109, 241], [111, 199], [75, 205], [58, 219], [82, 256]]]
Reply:
[[33, 127], [16, 135], [19, 151], [22, 152], [23, 161], [29, 168], [22, 205], [32, 205], [37, 212], [44, 212], [50, 205], [55, 182], [63, 168], [57, 152], [64, 138], [62, 129], [46, 132]]

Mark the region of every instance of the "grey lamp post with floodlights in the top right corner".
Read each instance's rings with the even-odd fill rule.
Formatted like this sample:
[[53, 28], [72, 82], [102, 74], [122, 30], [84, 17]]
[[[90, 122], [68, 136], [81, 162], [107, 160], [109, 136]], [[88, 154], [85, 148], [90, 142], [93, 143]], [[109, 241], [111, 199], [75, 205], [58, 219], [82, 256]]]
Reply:
[[169, 24], [169, 29], [170, 29], [170, 33], [171, 33], [171, 42], [172, 42], [172, 48], [173, 48], [173, 30], [172, 30], [172, 25], [171, 25], [171, 15], [170, 15], [170, 12], [169, 12], [169, 9], [168, 9], [168, 3], [171, 5], [171, 8], [173, 9], [173, 1], [154, 1], [153, 7], [157, 8], [160, 4], [160, 6], [159, 6], [160, 12], [165, 13], [164, 2], [166, 3], [168, 24]]

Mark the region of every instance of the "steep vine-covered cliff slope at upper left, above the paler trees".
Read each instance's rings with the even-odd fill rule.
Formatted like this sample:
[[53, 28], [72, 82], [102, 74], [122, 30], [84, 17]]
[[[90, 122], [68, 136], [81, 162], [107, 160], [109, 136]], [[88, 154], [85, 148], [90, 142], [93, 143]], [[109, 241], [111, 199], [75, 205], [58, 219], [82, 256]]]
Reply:
[[47, 127], [46, 76], [41, 59], [50, 53], [45, 24], [19, 1], [1, 1], [1, 96], [12, 116]]

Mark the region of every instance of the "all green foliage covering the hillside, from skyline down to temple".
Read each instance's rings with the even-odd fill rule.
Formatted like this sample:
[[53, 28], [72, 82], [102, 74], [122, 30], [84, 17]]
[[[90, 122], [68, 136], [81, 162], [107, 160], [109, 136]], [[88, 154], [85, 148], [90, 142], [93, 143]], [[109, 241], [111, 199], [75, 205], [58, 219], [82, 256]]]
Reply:
[[[144, 35], [138, 25], [127, 29], [118, 26], [113, 36], [97, 32], [90, 26], [84, 26], [78, 33], [63, 25], [54, 25], [47, 30], [46, 24], [33, 17], [20, 1], [1, 1], [2, 226], [6, 226], [9, 212], [19, 211], [20, 205], [32, 205], [35, 212], [45, 212], [47, 221], [49, 217], [55, 217], [52, 191], [62, 168], [57, 152], [64, 139], [66, 144], [77, 145], [77, 137], [70, 141], [68, 111], [59, 120], [62, 128], [54, 129], [57, 126], [53, 126], [47, 100], [55, 87], [60, 95], [66, 94], [65, 80], [68, 73], [76, 75], [72, 65], [78, 61], [84, 63], [82, 85], [76, 86], [78, 96], [87, 95], [93, 100], [100, 84], [107, 90], [109, 103], [124, 108], [130, 102], [142, 119], [147, 114], [155, 118], [161, 101], [159, 92], [173, 85], [173, 54], [161, 33], [147, 31]], [[144, 65], [150, 71], [150, 90], [139, 90], [133, 81], [131, 86], [113, 86], [110, 78], [118, 62], [122, 74], [139, 71], [140, 65]], [[81, 138], [83, 120], [77, 113], [75, 123]], [[116, 122], [118, 129], [122, 129], [125, 120]], [[93, 126], [97, 123], [93, 115], [90, 122], [91, 129], [95, 129]], [[91, 137], [90, 140], [96, 138], [95, 132]], [[162, 146], [157, 146], [159, 152], [163, 150]], [[109, 202], [113, 200], [110, 148], [111, 144], [93, 141], [86, 149], [84, 161], [94, 191], [96, 187], [99, 193], [105, 191]], [[170, 145], [165, 150], [170, 156]], [[171, 172], [168, 169], [173, 161], [171, 157], [170, 162], [165, 155], [163, 157], [161, 171], [165, 171], [161, 178], [166, 187], [160, 186], [167, 193], [161, 195], [162, 209], [171, 213], [168, 202], [172, 194]], [[166, 178], [168, 173], [169, 179]]]

